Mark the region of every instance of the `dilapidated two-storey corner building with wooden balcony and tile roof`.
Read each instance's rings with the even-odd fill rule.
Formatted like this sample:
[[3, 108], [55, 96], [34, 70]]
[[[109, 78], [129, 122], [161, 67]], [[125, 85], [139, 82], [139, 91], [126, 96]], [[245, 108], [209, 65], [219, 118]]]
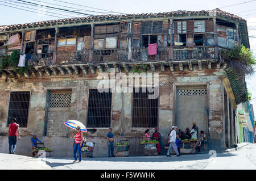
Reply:
[[[149, 55], [154, 43], [157, 53]], [[7, 153], [13, 117], [22, 130], [18, 154], [31, 154], [29, 136], [36, 133], [51, 155], [71, 156], [72, 130], [63, 124], [69, 119], [86, 125], [88, 142], [96, 142], [94, 156], [107, 154], [109, 127], [115, 142], [130, 141], [133, 155], [144, 154], [138, 143], [147, 128], [159, 128], [163, 148], [172, 125], [184, 131], [193, 122], [207, 133], [207, 149], [232, 147], [237, 105], [246, 101], [245, 75], [234, 78], [218, 54], [241, 44], [249, 47], [246, 20], [219, 9], [2, 26], [0, 53], [17, 49], [30, 66], [24, 73], [0, 70], [0, 139], [6, 145], [0, 151]], [[116, 76], [139, 69], [159, 73], [159, 96], [98, 92], [97, 75], [110, 75], [112, 68]]]

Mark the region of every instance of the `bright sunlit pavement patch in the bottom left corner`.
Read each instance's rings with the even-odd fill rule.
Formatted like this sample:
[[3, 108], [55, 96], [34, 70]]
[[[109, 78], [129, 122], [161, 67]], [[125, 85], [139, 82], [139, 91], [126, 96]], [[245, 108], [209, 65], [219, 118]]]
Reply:
[[26, 157], [23, 155], [0, 153], [0, 170], [52, 170], [40, 158]]

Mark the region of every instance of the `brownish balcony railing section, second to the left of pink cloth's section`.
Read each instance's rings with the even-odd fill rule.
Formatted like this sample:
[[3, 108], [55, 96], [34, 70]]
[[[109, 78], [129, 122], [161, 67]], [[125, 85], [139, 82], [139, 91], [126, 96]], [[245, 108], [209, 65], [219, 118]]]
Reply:
[[82, 64], [88, 63], [90, 50], [76, 50], [56, 52], [56, 64]]

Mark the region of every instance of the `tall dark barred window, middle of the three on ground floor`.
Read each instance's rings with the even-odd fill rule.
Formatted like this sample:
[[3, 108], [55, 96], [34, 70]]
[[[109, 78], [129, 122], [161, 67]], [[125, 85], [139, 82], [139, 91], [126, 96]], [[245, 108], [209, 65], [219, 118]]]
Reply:
[[110, 127], [112, 92], [98, 92], [97, 89], [89, 90], [87, 124], [88, 128]]

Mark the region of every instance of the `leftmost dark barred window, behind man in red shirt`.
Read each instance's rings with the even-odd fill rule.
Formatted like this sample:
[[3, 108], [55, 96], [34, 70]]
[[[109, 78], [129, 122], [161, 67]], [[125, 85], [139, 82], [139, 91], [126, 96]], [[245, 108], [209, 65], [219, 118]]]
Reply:
[[13, 123], [13, 119], [16, 118], [16, 123], [19, 124], [20, 127], [27, 127], [29, 105], [30, 91], [11, 92], [7, 125]]

